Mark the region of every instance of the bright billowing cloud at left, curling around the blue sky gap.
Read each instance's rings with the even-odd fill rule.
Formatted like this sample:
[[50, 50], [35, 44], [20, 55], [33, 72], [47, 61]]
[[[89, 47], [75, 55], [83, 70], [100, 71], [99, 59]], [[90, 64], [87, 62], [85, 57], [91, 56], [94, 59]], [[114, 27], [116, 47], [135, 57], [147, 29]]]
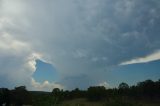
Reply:
[[[4, 81], [9, 80], [10, 87], [26, 84], [29, 90], [51, 91], [53, 88], [64, 88], [57, 83], [44, 81], [36, 82], [32, 75], [36, 71], [36, 60], [43, 59], [41, 53], [34, 52], [27, 42], [15, 39], [9, 33], [0, 36], [0, 76], [5, 76]], [[6, 62], [5, 62], [6, 61]], [[4, 66], [5, 64], [5, 66]], [[31, 79], [31, 80], [30, 80]], [[0, 85], [3, 86], [3, 85]]]

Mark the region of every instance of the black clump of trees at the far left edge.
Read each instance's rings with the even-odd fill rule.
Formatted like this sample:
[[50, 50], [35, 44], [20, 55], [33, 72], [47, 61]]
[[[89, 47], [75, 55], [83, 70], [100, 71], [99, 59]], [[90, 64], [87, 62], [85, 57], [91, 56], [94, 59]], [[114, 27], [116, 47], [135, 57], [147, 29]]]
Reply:
[[15, 87], [13, 90], [0, 88], [0, 106], [22, 106], [32, 104], [32, 96], [25, 86]]

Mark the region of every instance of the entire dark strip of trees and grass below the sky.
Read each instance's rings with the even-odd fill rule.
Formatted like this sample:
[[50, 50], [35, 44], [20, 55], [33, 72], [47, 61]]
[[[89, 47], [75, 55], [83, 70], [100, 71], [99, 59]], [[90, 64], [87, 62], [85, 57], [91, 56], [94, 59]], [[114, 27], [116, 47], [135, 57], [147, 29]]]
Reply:
[[160, 106], [160, 80], [146, 80], [129, 86], [119, 84], [118, 88], [106, 89], [92, 86], [87, 90], [63, 91], [54, 88], [52, 92], [27, 91], [25, 86], [14, 90], [0, 89], [0, 106]]

